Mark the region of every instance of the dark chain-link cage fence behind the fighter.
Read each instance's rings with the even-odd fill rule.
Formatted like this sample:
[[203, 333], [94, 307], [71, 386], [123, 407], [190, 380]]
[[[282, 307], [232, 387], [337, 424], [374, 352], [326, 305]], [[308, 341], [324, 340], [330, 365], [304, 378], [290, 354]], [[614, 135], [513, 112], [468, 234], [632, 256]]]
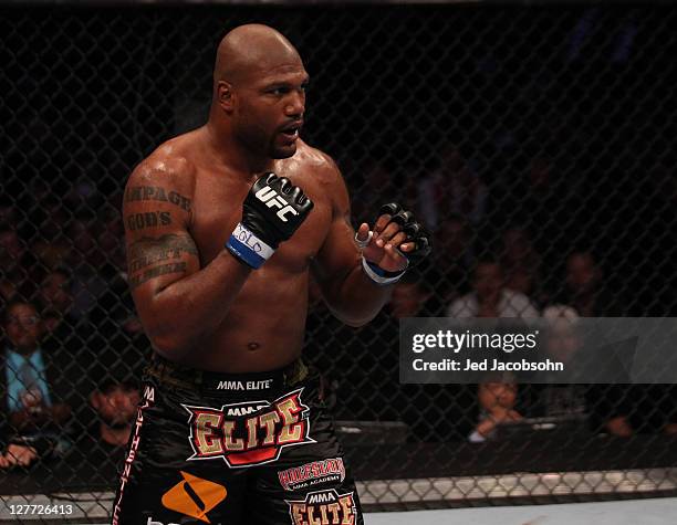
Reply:
[[[400, 385], [397, 369], [399, 318], [457, 315], [482, 286], [503, 302], [472, 315], [676, 314], [674, 9], [6, 6], [0, 518], [108, 516], [152, 354], [123, 188], [206, 120], [216, 45], [244, 22], [304, 59], [304, 138], [336, 159], [354, 223], [398, 200], [434, 234], [431, 261], [367, 326], [335, 321], [311, 287], [305, 356], [365, 507], [674, 493], [669, 385]], [[20, 337], [39, 344], [32, 378]], [[553, 414], [559, 431], [480, 429]]]

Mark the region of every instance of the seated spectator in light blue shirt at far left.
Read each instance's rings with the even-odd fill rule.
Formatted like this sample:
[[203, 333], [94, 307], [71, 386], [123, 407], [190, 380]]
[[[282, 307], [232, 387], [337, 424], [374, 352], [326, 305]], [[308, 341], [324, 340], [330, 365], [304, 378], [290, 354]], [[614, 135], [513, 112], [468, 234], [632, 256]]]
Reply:
[[39, 312], [29, 302], [12, 300], [3, 326], [8, 338], [0, 369], [4, 426], [28, 440], [49, 440], [63, 453], [71, 408], [62, 402], [61, 389], [72, 387], [63, 380], [56, 356], [40, 346], [43, 323]]

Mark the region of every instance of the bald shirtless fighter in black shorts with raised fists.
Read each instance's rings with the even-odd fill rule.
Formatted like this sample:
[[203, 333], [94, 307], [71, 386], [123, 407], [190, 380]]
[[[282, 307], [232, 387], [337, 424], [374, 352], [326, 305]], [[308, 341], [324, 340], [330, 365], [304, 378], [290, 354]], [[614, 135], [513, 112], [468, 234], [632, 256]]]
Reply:
[[355, 234], [336, 165], [299, 138], [308, 81], [280, 33], [236, 28], [208, 123], [127, 182], [129, 285], [155, 355], [113, 524], [363, 523], [300, 359], [309, 274], [360, 326], [430, 246], [396, 204]]

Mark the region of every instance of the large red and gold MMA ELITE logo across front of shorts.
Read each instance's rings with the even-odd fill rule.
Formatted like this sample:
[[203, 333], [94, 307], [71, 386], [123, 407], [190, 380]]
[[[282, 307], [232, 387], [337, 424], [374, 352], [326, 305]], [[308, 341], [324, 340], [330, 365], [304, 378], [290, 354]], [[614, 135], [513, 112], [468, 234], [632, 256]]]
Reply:
[[220, 409], [183, 405], [190, 413], [191, 460], [222, 458], [230, 468], [277, 461], [282, 449], [314, 443], [303, 388], [272, 402], [223, 405]]

